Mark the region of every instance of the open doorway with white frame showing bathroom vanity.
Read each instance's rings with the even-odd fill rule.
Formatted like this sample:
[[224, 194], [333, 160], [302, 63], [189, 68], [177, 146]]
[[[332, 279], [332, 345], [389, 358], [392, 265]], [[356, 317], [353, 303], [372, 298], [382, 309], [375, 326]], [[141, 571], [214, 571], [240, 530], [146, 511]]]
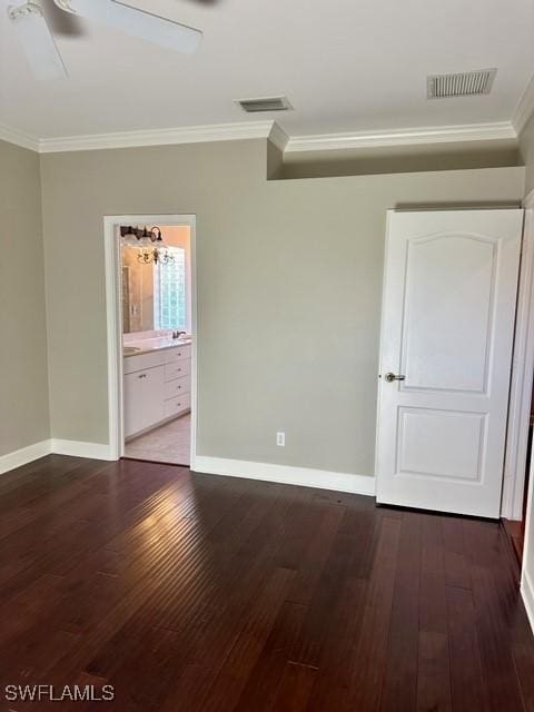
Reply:
[[195, 217], [106, 218], [110, 442], [190, 466], [196, 432]]

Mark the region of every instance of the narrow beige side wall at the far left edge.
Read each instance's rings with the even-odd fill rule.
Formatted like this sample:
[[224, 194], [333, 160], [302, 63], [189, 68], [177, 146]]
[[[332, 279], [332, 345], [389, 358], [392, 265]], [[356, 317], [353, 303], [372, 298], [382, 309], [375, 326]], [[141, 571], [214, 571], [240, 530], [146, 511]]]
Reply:
[[50, 437], [39, 156], [0, 141], [0, 456]]

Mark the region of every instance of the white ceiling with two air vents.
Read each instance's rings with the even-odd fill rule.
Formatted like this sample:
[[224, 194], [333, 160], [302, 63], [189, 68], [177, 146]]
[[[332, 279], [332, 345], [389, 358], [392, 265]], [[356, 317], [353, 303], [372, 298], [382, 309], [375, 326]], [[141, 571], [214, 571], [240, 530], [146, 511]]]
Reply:
[[[56, 138], [276, 118], [298, 137], [510, 121], [534, 72], [532, 0], [127, 1], [200, 28], [200, 50], [75, 19], [79, 34], [56, 34], [70, 78], [37, 82], [0, 0], [0, 125]], [[428, 73], [491, 67], [490, 96], [426, 99]], [[277, 95], [295, 111], [234, 103]]]

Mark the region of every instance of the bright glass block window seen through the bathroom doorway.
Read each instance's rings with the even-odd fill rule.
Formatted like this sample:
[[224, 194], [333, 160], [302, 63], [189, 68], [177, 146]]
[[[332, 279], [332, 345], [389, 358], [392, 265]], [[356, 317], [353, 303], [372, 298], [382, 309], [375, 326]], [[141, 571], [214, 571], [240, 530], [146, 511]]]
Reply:
[[154, 266], [154, 323], [156, 330], [187, 330], [186, 250], [167, 248], [175, 261]]

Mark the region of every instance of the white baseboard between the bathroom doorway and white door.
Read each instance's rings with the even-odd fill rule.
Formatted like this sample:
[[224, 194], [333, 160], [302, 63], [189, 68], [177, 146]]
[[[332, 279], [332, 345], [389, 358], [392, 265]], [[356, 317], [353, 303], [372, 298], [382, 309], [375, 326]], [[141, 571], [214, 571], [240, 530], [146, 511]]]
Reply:
[[308, 469], [307, 467], [287, 467], [285, 465], [269, 465], [267, 463], [250, 463], [244, 459], [226, 459], [221, 457], [195, 457], [191, 465], [194, 472], [208, 475], [226, 475], [228, 477], [245, 477], [248, 479], [264, 479], [286, 485], [317, 487], [335, 492], [350, 492], [369, 497], [376, 495], [376, 481], [373, 476], [349, 475], [324, 469]]

